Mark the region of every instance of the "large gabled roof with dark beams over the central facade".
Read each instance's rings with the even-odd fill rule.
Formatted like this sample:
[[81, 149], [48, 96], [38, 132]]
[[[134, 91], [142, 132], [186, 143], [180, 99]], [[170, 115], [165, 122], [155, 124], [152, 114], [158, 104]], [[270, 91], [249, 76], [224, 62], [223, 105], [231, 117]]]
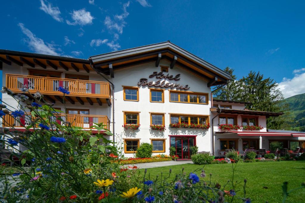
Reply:
[[89, 58], [99, 72], [111, 75], [112, 77], [114, 77], [114, 69], [125, 68], [148, 61], [156, 61], [156, 67], [158, 67], [161, 59], [170, 61], [170, 68], [177, 65], [206, 79], [209, 81], [208, 86], [226, 84], [231, 78], [229, 73], [178, 47], [170, 41], [114, 51]]

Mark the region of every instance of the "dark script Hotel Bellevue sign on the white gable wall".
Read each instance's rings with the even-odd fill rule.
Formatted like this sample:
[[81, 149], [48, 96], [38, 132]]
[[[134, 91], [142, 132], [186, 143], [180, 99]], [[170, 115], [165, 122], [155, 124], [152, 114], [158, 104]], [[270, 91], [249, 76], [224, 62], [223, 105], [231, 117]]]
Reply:
[[[180, 74], [177, 74], [176, 76], [173, 76], [173, 75], [164, 75], [163, 72], [153, 72], [151, 75], [149, 75], [149, 78], [153, 78], [155, 77], [159, 80], [157, 80], [156, 82], [153, 82], [153, 81], [148, 81], [147, 78], [141, 78], [140, 81], [138, 82], [138, 86], [155, 86], [155, 87], [170, 87], [170, 89], [173, 89], [173, 88], [176, 88], [176, 89], [184, 89], [184, 90], [188, 90], [190, 89], [190, 87], [188, 85], [180, 85], [178, 84], [177, 82], [175, 83], [170, 83], [170, 82], [166, 82], [165, 79], [168, 79], [168, 80], [174, 80], [174, 81], [178, 81], [180, 80]], [[162, 80], [164, 79], [164, 80]], [[166, 82], [166, 83], [165, 83]]]

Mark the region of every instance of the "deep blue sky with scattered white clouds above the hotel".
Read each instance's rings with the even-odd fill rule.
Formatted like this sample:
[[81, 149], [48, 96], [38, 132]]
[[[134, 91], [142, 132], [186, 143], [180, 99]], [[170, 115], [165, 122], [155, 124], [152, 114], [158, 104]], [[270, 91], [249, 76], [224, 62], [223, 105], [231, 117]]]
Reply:
[[305, 93], [304, 7], [301, 1], [4, 1], [0, 49], [88, 58], [170, 40], [219, 68], [234, 68], [238, 78], [260, 71], [289, 97]]

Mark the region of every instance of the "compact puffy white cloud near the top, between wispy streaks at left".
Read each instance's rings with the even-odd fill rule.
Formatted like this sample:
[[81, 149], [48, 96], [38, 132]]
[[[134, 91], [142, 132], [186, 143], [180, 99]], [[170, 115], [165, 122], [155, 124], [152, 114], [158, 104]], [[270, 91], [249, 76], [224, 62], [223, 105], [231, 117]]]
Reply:
[[94, 17], [91, 16], [91, 13], [86, 11], [86, 9], [73, 10], [70, 14], [74, 22], [71, 23], [69, 20], [66, 20], [68, 25], [88, 25], [92, 24], [92, 20], [94, 19]]

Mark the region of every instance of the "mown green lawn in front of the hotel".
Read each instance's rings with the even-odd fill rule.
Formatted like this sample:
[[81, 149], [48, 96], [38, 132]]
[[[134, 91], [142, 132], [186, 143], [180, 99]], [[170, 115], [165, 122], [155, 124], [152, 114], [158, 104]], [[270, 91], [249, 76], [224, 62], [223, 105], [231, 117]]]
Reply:
[[[181, 168], [185, 168], [188, 174], [202, 165], [183, 164], [177, 166], [164, 166], [147, 169], [147, 174], [150, 173], [151, 179], [156, 175], [168, 174], [169, 169], [172, 169], [173, 179], [174, 174], [181, 173]], [[141, 172], [144, 169], [140, 169]], [[232, 165], [231, 164], [210, 164], [204, 166], [206, 171], [206, 180], [209, 180], [209, 174], [212, 173], [212, 182], [220, 183], [221, 185], [232, 180]], [[141, 173], [143, 174], [143, 173]], [[197, 173], [200, 174], [199, 172]], [[280, 162], [256, 162], [256, 163], [238, 163], [235, 168], [234, 180], [240, 183], [235, 190], [240, 190], [237, 195], [243, 196], [242, 184], [244, 179], [247, 179], [247, 197], [253, 202], [281, 203], [282, 202], [282, 184], [288, 181], [288, 190], [300, 187], [302, 182], [305, 182], [305, 161], [280, 161]], [[267, 188], [266, 188], [267, 187]], [[230, 190], [227, 187], [226, 190]], [[305, 189], [294, 191], [286, 202], [296, 203], [305, 202]]]

